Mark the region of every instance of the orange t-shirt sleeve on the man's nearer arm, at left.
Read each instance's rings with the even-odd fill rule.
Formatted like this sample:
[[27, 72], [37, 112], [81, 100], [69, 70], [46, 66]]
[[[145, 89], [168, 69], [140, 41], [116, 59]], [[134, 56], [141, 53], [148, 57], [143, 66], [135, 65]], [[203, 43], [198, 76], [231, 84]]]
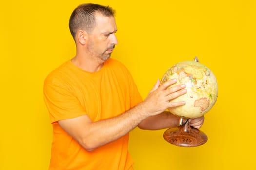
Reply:
[[60, 83], [44, 84], [44, 101], [50, 113], [51, 123], [86, 115], [72, 91]]

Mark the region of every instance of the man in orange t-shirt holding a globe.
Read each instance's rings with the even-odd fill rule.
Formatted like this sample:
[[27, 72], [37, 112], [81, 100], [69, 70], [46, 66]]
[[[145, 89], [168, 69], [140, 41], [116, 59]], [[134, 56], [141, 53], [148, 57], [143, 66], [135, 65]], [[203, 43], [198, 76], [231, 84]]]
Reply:
[[[170, 80], [154, 85], [142, 101], [129, 71], [110, 55], [118, 43], [114, 11], [82, 4], [69, 21], [76, 56], [50, 73], [44, 99], [53, 125], [49, 170], [133, 170], [127, 151], [135, 127], [162, 129], [178, 125], [165, 112], [185, 104], [172, 99], [186, 93]], [[200, 128], [204, 117], [191, 119]]]

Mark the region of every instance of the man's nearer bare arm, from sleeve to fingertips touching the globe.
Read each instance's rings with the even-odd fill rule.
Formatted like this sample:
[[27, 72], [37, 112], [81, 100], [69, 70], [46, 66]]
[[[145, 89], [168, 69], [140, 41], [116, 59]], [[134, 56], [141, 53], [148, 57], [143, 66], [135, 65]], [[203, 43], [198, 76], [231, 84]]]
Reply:
[[176, 79], [173, 79], [159, 86], [158, 80], [143, 102], [116, 117], [92, 122], [87, 115], [84, 115], [59, 120], [58, 123], [86, 150], [93, 150], [126, 135], [150, 116], [158, 115], [170, 107], [184, 105], [183, 101], [169, 102], [186, 93], [184, 85], [168, 88], [175, 83]]

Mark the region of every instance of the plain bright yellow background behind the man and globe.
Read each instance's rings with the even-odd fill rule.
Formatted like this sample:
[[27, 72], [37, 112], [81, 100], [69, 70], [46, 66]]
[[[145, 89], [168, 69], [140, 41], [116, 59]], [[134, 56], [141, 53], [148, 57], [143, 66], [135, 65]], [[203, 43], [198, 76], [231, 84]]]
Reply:
[[143, 98], [173, 64], [192, 60], [216, 75], [219, 97], [195, 148], [167, 143], [164, 130], [131, 133], [136, 170], [255, 170], [255, 0], [4, 0], [0, 4], [0, 170], [46, 170], [51, 125], [46, 75], [75, 55], [68, 29], [84, 2], [116, 9], [113, 58], [130, 69]]

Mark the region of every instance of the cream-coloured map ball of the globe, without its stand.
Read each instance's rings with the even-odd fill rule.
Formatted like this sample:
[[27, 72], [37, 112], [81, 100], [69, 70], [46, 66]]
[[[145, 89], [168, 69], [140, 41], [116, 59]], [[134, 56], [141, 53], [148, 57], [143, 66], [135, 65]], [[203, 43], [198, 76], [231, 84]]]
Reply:
[[218, 84], [209, 68], [197, 61], [179, 62], [165, 72], [161, 84], [174, 78], [177, 79], [174, 85], [185, 84], [187, 93], [171, 101], [186, 102], [183, 106], [169, 108], [171, 113], [185, 118], [197, 118], [213, 107], [218, 96]]

